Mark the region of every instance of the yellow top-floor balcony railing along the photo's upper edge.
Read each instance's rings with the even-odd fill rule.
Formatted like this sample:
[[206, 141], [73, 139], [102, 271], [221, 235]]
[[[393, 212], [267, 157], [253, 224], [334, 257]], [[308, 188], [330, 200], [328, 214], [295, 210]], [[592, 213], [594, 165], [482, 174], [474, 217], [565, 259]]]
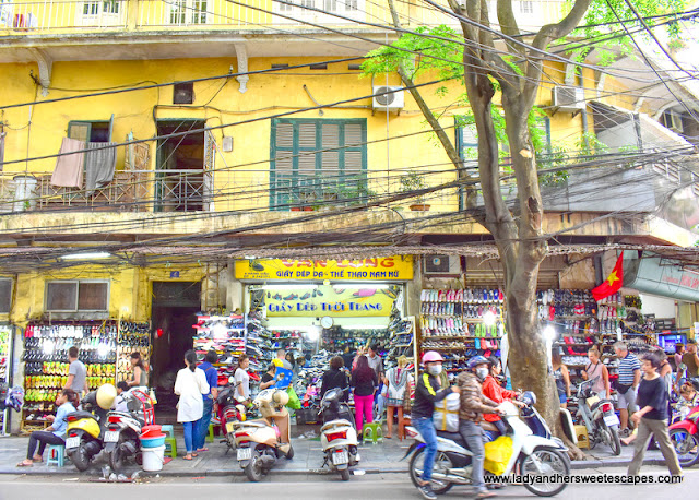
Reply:
[[[438, 0], [448, 7], [447, 0]], [[293, 3], [293, 4], [291, 4]], [[536, 0], [516, 12], [523, 27], [546, 22], [560, 13], [562, 1]], [[457, 20], [428, 4], [396, 0], [404, 26], [457, 25]], [[491, 13], [495, 2], [491, 1]], [[316, 10], [313, 10], [316, 9]], [[516, 11], [518, 7], [516, 5]], [[319, 12], [320, 10], [329, 13]], [[531, 13], [530, 13], [531, 10]], [[336, 14], [336, 15], [332, 15]], [[531, 17], [531, 20], [529, 20]], [[497, 20], [491, 20], [497, 23]], [[358, 22], [358, 23], [357, 23]], [[84, 31], [191, 31], [295, 28], [321, 26], [369, 27], [392, 24], [388, 3], [375, 0], [46, 0], [0, 3], [0, 34]], [[526, 26], [524, 26], [526, 25]]]

